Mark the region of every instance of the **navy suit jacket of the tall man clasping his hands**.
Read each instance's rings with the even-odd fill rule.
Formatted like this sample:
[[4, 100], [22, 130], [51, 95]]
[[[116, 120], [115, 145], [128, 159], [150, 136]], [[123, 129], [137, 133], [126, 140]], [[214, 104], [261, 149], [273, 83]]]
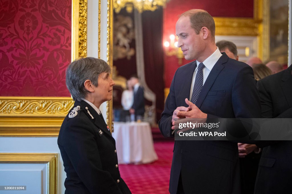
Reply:
[[[171, 135], [171, 119], [178, 106], [187, 106], [196, 61], [175, 72], [159, 129]], [[208, 118], [259, 118], [260, 100], [253, 70], [245, 63], [219, 58], [206, 79], [197, 107]], [[175, 141], [169, 184], [176, 193], [181, 173], [185, 193], [240, 193], [237, 143], [229, 141]]]

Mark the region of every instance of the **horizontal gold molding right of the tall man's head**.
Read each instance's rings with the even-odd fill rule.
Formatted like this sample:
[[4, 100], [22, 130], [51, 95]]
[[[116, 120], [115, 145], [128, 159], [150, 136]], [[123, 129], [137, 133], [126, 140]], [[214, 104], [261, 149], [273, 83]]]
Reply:
[[260, 19], [238, 17], [214, 17], [215, 35], [258, 36]]

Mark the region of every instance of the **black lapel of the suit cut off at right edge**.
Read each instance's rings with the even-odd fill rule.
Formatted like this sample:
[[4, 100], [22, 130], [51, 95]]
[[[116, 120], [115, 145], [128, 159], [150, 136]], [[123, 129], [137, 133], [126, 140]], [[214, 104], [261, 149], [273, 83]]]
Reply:
[[281, 82], [281, 88], [282, 91], [285, 95], [285, 98], [289, 104], [289, 107], [292, 107], [292, 92], [291, 89], [287, 90], [287, 88], [291, 88], [292, 87], [292, 65], [290, 65], [290, 67], [288, 67], [286, 70], [284, 70], [285, 72], [283, 72], [283, 77], [282, 77], [282, 82]]

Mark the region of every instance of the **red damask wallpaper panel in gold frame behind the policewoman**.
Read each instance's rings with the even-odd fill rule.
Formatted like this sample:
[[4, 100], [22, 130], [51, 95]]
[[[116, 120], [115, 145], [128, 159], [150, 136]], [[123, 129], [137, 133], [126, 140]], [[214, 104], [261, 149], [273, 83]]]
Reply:
[[70, 96], [71, 0], [0, 1], [0, 95]]

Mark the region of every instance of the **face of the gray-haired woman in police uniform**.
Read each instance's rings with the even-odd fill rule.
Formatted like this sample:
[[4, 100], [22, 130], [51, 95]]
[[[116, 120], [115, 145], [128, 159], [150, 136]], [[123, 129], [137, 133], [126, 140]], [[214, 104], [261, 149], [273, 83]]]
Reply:
[[105, 102], [112, 99], [112, 87], [115, 85], [109, 73], [102, 72], [98, 76], [98, 86], [94, 87], [95, 98], [99, 102]]

